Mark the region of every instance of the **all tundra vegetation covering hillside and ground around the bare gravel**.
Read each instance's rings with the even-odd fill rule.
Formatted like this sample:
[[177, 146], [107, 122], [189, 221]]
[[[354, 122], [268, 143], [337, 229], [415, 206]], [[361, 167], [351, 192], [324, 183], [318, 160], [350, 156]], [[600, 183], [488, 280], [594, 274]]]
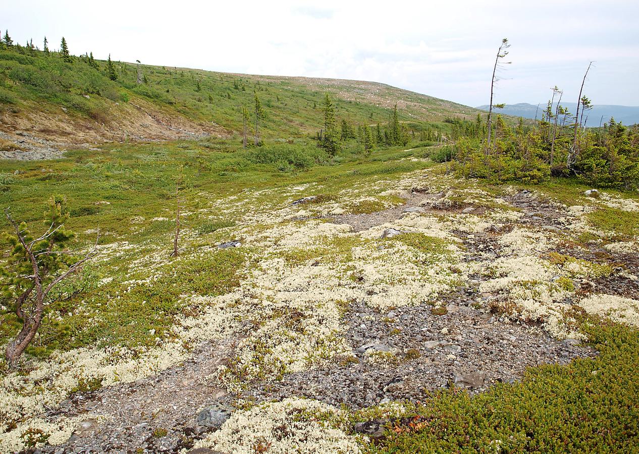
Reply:
[[[350, 87], [98, 61], [63, 44], [40, 51], [4, 34], [4, 116], [65, 107], [98, 128], [121, 105], [145, 102], [174, 119], [215, 121], [224, 134], [0, 161], [0, 206], [10, 207], [0, 221], [8, 351], [40, 314], [22, 354], [0, 362], [0, 451], [55, 450], [86, 424], [118, 418], [99, 405], [64, 412], [62, 403], [184, 367], [203, 343], [227, 346], [224, 361], [190, 386], [219, 391], [235, 411], [219, 430], [180, 433], [176, 450], [639, 444], [636, 126], [583, 130], [550, 108], [536, 123], [491, 118], [488, 141], [487, 121], [451, 103], [415, 120], [432, 98], [424, 110], [401, 100], [380, 107], [352, 101]], [[33, 299], [38, 285], [48, 292]], [[592, 350], [481, 393], [446, 376], [419, 399], [374, 396], [360, 406], [301, 393], [256, 398], [258, 388], [322, 368], [456, 367], [463, 353], [406, 340], [395, 312], [445, 323], [460, 290], [477, 296], [465, 308], [472, 329], [495, 321]], [[369, 317], [357, 326], [356, 311]], [[403, 343], [357, 352], [353, 330], [374, 317]], [[422, 332], [447, 346], [463, 337], [447, 327]], [[153, 427], [161, 417], [143, 416], [144, 443], [178, 437], [175, 427]], [[371, 421], [383, 435], [355, 430]]]

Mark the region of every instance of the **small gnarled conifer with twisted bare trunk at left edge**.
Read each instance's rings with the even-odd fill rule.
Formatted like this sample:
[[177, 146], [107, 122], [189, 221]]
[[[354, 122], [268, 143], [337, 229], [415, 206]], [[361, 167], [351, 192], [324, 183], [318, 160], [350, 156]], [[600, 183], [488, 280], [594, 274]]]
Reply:
[[13, 219], [8, 208], [4, 213], [12, 227], [12, 232], [4, 234], [4, 237], [12, 250], [1, 274], [1, 298], [3, 305], [22, 324], [15, 339], [7, 344], [5, 356], [10, 365], [16, 365], [36, 337], [46, 306], [53, 302], [50, 296], [52, 289], [93, 257], [96, 247], [90, 248], [84, 257], [68, 250], [75, 234], [65, 228], [69, 213], [64, 197], [50, 199], [45, 213], [48, 229], [37, 238], [27, 229], [26, 223]]

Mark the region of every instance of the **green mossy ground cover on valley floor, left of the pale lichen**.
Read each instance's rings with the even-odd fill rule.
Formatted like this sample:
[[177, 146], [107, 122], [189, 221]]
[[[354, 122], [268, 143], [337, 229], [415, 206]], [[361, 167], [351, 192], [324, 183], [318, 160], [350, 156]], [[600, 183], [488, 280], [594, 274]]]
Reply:
[[[321, 159], [310, 160], [310, 152], [319, 153]], [[277, 159], [268, 158], [269, 153]], [[10, 207], [15, 218], [25, 220], [35, 232], [43, 231], [46, 201], [66, 195], [72, 211], [68, 227], [77, 233], [77, 246], [95, 241], [98, 229], [100, 244], [113, 246], [107, 259], [84, 269], [82, 279], [59, 287], [59, 298], [49, 306], [28, 352], [46, 356], [55, 349], [88, 345], [149, 347], [158, 337], [165, 340], [178, 315], [200, 310], [190, 307], [184, 295], [229, 292], [245, 269], [245, 255], [234, 250], [197, 255], [198, 248], [235, 238], [236, 210], [212, 209], [215, 202], [236, 197], [241, 203], [250, 198], [249, 210], [281, 207], [291, 198], [283, 188], [308, 186], [300, 197], [316, 195], [318, 181], [322, 187], [317, 204], [334, 202], [338, 198], [332, 194], [354, 183], [368, 186], [380, 178], [377, 171], [384, 179], [399, 178], [407, 170], [430, 165], [400, 161], [405, 156], [406, 152], [394, 149], [376, 151], [369, 158], [344, 151], [338, 160], [330, 160], [312, 142], [266, 144], [245, 151], [229, 140], [210, 139], [111, 144], [100, 151], [72, 151], [55, 161], [0, 162], [0, 174], [11, 176], [5, 179], [0, 206]], [[283, 161], [293, 163], [292, 168], [282, 169]], [[184, 218], [185, 231], [192, 232], [194, 239], [184, 257], [172, 260], [178, 174], [187, 181], [180, 197], [183, 211], [190, 211]], [[259, 195], [261, 190], [267, 191]], [[382, 208], [386, 199], [378, 202]], [[0, 226], [8, 227], [4, 216]], [[258, 225], [252, 228], [259, 230]], [[339, 238], [332, 241], [288, 259], [334, 260], [353, 247]], [[145, 262], [146, 256], [151, 259]], [[156, 266], [158, 260], [161, 266]], [[0, 342], [4, 342], [15, 335], [18, 321], [12, 314], [0, 317]]]

